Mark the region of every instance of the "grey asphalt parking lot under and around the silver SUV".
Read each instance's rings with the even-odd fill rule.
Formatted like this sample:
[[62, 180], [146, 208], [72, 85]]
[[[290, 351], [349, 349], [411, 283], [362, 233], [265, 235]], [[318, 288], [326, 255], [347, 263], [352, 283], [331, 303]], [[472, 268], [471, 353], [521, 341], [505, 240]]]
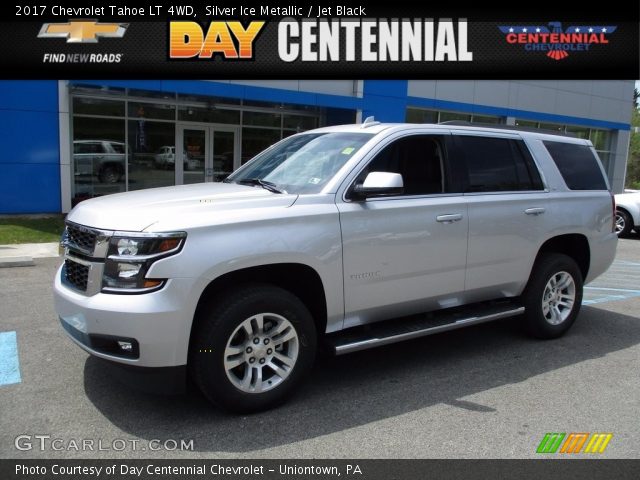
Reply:
[[640, 237], [620, 241], [559, 340], [509, 319], [323, 358], [290, 403], [251, 416], [105, 375], [56, 319], [60, 260], [35, 263], [0, 269], [0, 367], [13, 338], [19, 359], [0, 381], [2, 458], [532, 458], [546, 432], [610, 432], [599, 456], [640, 457]]

